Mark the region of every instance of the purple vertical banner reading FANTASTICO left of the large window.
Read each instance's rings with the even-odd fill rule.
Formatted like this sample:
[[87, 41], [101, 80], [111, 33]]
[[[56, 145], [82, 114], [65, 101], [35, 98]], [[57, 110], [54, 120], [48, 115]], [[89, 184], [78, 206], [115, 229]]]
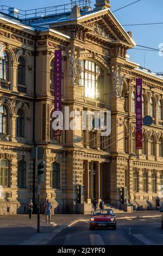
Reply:
[[[54, 111], [61, 111], [61, 86], [62, 86], [62, 51], [55, 50], [54, 61]], [[61, 130], [55, 130], [55, 136], [61, 135]]]

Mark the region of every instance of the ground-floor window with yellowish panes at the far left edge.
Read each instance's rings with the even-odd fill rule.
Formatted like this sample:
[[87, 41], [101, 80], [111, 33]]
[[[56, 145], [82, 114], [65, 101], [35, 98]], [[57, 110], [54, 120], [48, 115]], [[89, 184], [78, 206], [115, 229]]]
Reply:
[[3, 159], [1, 160], [0, 165], [0, 185], [9, 187], [9, 161]]

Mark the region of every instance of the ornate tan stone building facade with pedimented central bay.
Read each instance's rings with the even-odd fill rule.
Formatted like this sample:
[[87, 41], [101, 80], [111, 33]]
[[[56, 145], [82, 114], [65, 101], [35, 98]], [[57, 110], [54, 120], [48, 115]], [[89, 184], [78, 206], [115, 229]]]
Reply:
[[[57, 9], [56, 9], [57, 10]], [[43, 147], [41, 203], [55, 213], [86, 213], [93, 198], [120, 207], [155, 206], [163, 186], [163, 77], [129, 61], [131, 33], [111, 13], [109, 1], [95, 9], [20, 18], [17, 9], [0, 16], [0, 214], [24, 213], [36, 202], [34, 146]], [[111, 110], [111, 134], [100, 129], [62, 130], [54, 136], [54, 51], [62, 50], [62, 110]], [[135, 85], [143, 79], [143, 150], [135, 149]], [[65, 114], [65, 113], [64, 113]], [[80, 120], [82, 123], [82, 120]], [[88, 123], [86, 124], [88, 126]], [[79, 186], [84, 185], [84, 203]], [[42, 205], [41, 205], [42, 208]]]

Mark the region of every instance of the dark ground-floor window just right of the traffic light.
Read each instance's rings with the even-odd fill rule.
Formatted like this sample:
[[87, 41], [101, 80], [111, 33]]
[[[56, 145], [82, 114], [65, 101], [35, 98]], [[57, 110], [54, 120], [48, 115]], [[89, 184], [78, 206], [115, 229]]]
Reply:
[[60, 188], [60, 165], [58, 163], [51, 164], [50, 185], [52, 188]]

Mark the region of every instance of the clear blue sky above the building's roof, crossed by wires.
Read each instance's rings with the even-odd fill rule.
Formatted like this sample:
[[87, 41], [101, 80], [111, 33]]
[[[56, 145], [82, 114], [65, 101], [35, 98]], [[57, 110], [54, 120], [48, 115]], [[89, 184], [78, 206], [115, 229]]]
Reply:
[[[18, 9], [33, 9], [58, 4], [65, 4], [70, 0], [1, 0], [1, 4]], [[95, 3], [95, 0], [92, 1]], [[130, 4], [134, 0], [110, 0], [111, 10], [116, 10], [124, 5]], [[130, 5], [130, 7], [116, 11], [114, 15], [122, 25], [135, 23], [153, 23], [163, 22], [163, 1], [162, 0], [141, 0], [138, 3]], [[162, 25], [147, 25], [147, 26], [124, 26], [126, 31], [133, 32], [133, 39], [136, 44], [159, 48], [159, 44], [163, 43], [163, 24]], [[155, 51], [130, 50], [130, 60], [139, 63], [145, 68], [151, 69], [154, 72], [163, 72], [163, 57], [160, 57]], [[145, 55], [145, 58], [144, 58]]]

